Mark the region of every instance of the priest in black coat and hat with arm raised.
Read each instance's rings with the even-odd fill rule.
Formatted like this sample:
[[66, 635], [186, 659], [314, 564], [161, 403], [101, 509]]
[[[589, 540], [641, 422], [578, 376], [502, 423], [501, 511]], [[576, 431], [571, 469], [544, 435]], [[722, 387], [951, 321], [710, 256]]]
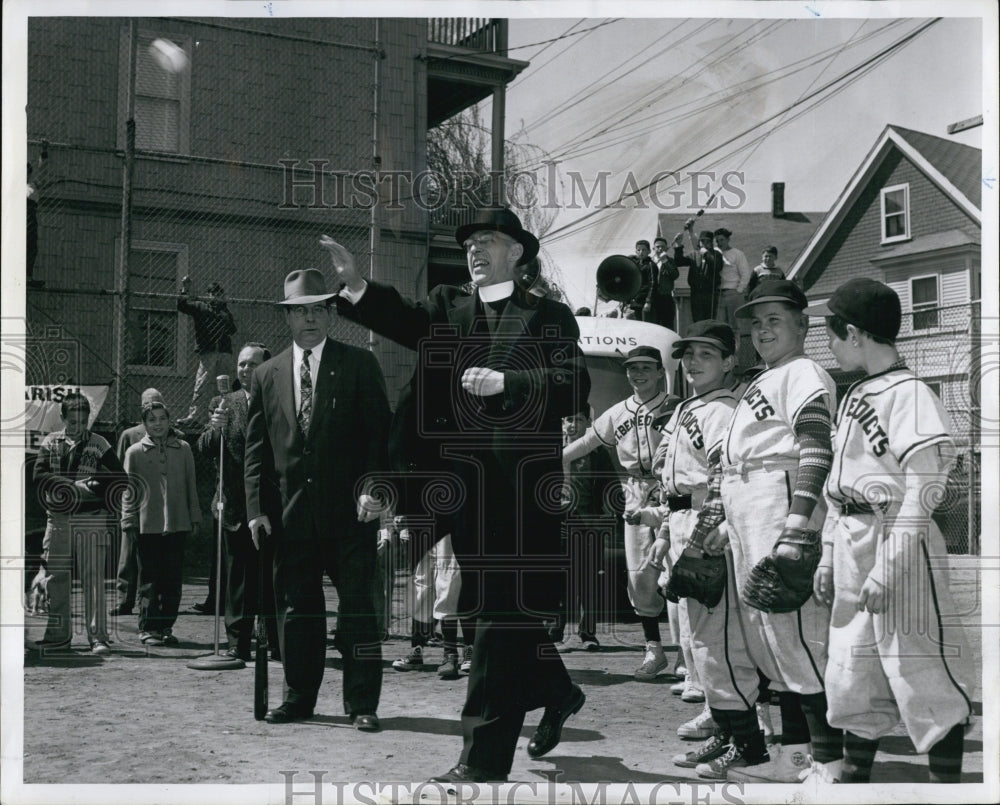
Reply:
[[[488, 210], [458, 228], [475, 292], [440, 286], [420, 302], [366, 282], [330, 238], [345, 287], [342, 315], [418, 350], [397, 417], [410, 417], [425, 451], [457, 480], [436, 513], [462, 569], [461, 614], [476, 614], [476, 639], [459, 763], [436, 782], [506, 780], [527, 711], [545, 708], [528, 753], [559, 742], [584, 703], [543, 625], [567, 583], [560, 549], [561, 418], [590, 378], [568, 307], [527, 292], [538, 240], [509, 210]], [[411, 538], [412, 541], [412, 538]]]

